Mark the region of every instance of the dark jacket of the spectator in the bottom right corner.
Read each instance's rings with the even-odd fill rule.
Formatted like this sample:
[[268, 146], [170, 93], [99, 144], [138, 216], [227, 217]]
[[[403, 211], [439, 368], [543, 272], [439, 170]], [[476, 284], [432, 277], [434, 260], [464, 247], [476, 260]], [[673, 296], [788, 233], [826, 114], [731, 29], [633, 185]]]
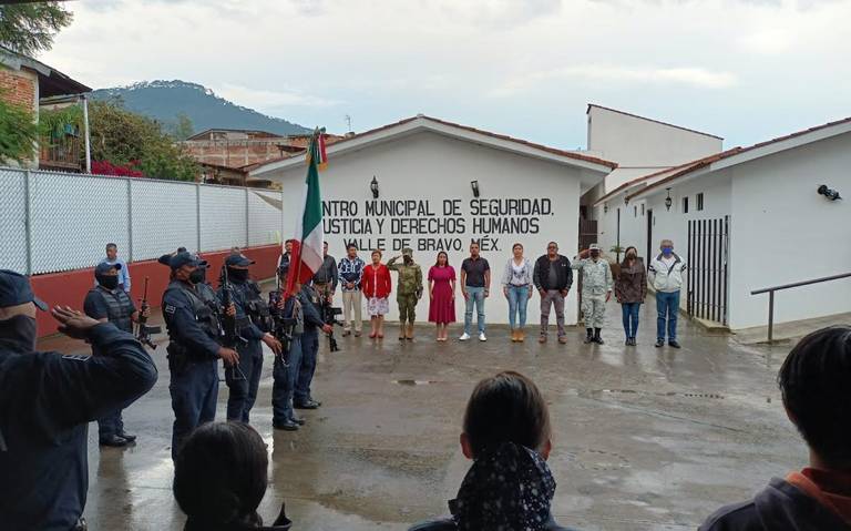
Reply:
[[775, 478], [750, 501], [722, 507], [699, 531], [849, 531], [851, 527], [814, 498]]

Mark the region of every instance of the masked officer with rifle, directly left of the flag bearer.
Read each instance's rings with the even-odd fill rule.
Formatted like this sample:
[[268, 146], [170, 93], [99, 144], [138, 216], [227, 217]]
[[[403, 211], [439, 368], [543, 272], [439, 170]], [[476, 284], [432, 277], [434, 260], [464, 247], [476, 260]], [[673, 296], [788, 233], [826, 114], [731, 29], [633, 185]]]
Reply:
[[280, 341], [271, 331], [269, 307], [260, 297], [260, 287], [248, 278], [248, 266], [254, 261], [242, 254], [232, 253], [225, 259], [229, 287], [221, 286], [216, 295], [223, 302], [225, 289], [230, 288], [230, 299], [236, 307], [236, 328], [244, 340], [237, 343], [239, 365], [225, 371], [225, 381], [230, 389], [227, 398], [227, 420], [248, 423], [248, 415], [257, 399], [257, 388], [263, 374], [263, 346], [265, 343], [275, 355], [280, 354]]

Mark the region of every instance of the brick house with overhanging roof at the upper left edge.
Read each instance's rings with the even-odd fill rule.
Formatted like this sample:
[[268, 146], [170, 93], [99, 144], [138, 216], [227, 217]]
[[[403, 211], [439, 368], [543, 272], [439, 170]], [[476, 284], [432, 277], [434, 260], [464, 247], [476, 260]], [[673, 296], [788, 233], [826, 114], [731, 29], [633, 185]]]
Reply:
[[[71, 105], [85, 105], [92, 89], [35, 59], [0, 47], [0, 98], [31, 112], [41, 113]], [[81, 172], [86, 170], [88, 122], [55, 124], [33, 151], [29, 167]]]

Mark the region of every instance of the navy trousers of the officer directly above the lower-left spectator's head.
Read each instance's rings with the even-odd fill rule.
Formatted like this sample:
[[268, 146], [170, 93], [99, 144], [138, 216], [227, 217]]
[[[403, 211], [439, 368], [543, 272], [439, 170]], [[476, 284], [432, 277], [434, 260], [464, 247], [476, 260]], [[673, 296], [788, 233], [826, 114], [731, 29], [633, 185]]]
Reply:
[[172, 459], [175, 459], [183, 440], [189, 432], [216, 418], [218, 361], [191, 362], [180, 374], [172, 371], [168, 391], [172, 395], [174, 410]]

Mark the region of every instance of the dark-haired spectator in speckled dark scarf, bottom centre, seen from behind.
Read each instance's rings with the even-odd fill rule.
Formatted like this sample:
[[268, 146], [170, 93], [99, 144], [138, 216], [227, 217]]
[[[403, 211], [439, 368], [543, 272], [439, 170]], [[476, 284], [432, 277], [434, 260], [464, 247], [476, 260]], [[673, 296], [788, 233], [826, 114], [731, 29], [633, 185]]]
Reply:
[[505, 371], [480, 381], [461, 433], [461, 449], [473, 466], [449, 502], [452, 515], [409, 531], [566, 531], [550, 513], [555, 494], [546, 466], [550, 437], [550, 411], [532, 380]]

